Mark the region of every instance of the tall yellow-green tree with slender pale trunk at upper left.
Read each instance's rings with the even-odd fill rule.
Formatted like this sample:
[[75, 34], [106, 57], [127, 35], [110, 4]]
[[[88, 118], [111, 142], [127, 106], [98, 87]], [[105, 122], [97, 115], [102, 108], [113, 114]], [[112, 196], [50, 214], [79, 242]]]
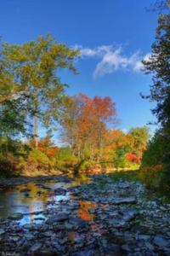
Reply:
[[[73, 62], [79, 52], [59, 44], [49, 35], [37, 42], [3, 44], [1, 51], [0, 102], [14, 96], [26, 96], [27, 107], [34, 119], [34, 140], [37, 147], [38, 119], [48, 126], [59, 118], [59, 108], [65, 101], [65, 86], [57, 72], [68, 67], [77, 73]], [[8, 90], [4, 89], [8, 84]], [[12, 85], [11, 85], [12, 84]]]

